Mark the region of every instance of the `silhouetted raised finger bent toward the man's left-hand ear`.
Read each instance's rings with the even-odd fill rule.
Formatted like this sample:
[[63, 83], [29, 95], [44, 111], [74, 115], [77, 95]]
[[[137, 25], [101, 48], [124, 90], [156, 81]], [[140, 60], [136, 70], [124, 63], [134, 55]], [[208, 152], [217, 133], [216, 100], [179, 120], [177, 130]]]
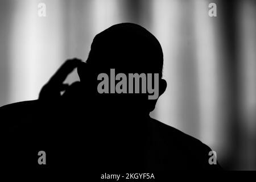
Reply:
[[60, 85], [67, 78], [69, 73], [82, 62], [82, 60], [74, 58], [65, 61], [63, 65], [57, 70], [57, 72], [51, 77], [48, 84], [51, 85]]

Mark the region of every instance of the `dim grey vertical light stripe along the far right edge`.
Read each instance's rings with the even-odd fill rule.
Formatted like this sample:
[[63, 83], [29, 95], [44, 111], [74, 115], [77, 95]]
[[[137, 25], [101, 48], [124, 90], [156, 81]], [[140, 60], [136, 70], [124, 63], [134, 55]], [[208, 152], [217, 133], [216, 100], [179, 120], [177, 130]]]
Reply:
[[240, 93], [241, 93], [241, 134], [243, 154], [241, 154], [242, 168], [255, 170], [256, 154], [256, 22], [253, 1], [243, 1], [239, 13], [238, 27], [240, 27], [239, 50], [240, 56]]

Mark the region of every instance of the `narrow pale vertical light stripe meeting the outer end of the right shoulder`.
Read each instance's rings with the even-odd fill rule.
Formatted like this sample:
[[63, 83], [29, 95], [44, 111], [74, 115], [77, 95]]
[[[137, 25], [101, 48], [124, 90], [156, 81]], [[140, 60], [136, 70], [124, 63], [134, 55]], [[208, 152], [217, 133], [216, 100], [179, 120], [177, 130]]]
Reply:
[[214, 18], [208, 15], [207, 1], [195, 1], [196, 60], [199, 80], [200, 139], [216, 145], [218, 134], [217, 52]]

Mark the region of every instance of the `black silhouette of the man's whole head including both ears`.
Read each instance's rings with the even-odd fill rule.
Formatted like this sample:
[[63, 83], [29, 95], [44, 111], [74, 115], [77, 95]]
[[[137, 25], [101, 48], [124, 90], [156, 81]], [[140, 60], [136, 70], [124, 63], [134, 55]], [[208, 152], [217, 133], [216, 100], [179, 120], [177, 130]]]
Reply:
[[[93, 70], [98, 75], [99, 73], [109, 73], [110, 68], [115, 69], [115, 74], [158, 73], [159, 78], [162, 78], [162, 47], [154, 35], [138, 24], [115, 24], [95, 36], [88, 60], [78, 68], [78, 73], [82, 82], [88, 80], [85, 79], [88, 76], [86, 72]], [[94, 79], [97, 78], [94, 77]], [[165, 89], [166, 81], [160, 79], [159, 96]], [[114, 94], [114, 97], [116, 96], [117, 94]], [[111, 102], [113, 103], [113, 94], [109, 97], [112, 97]], [[148, 113], [154, 110], [157, 101], [147, 100], [147, 97], [143, 97], [142, 94], [122, 96], [121, 99], [120, 96], [117, 97], [123, 105], [146, 106]]]

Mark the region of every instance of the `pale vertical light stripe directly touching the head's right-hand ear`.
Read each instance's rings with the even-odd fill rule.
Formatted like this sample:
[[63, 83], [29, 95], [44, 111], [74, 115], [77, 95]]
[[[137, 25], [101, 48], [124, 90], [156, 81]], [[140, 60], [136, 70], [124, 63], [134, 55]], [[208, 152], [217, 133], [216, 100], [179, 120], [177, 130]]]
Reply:
[[179, 127], [179, 77], [177, 61], [179, 52], [178, 1], [154, 0], [152, 2], [152, 34], [159, 40], [164, 54], [163, 78], [167, 90], [158, 100], [155, 118], [174, 127]]

